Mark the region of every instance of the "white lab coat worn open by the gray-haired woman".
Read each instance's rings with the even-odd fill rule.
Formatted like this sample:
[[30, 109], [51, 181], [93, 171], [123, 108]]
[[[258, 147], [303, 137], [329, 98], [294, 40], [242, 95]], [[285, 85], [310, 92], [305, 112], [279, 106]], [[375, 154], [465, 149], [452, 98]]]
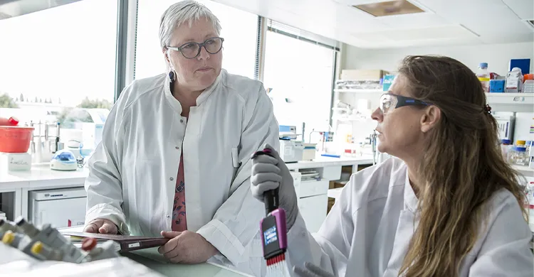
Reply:
[[171, 230], [183, 151], [187, 229], [213, 244], [219, 261], [259, 275], [265, 214], [250, 192], [250, 158], [263, 143], [278, 148], [271, 100], [261, 82], [222, 70], [188, 120], [181, 112], [166, 74], [123, 90], [88, 162], [85, 222], [110, 219], [134, 235]]

